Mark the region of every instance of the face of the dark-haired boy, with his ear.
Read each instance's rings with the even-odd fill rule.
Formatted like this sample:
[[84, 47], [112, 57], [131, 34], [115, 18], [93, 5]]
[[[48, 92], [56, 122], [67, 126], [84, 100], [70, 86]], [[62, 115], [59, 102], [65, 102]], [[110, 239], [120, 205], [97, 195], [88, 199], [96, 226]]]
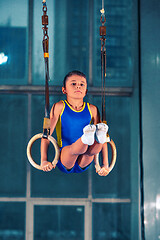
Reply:
[[67, 97], [81, 99], [87, 93], [87, 81], [84, 77], [73, 75], [66, 81], [66, 87], [62, 87], [62, 92]]

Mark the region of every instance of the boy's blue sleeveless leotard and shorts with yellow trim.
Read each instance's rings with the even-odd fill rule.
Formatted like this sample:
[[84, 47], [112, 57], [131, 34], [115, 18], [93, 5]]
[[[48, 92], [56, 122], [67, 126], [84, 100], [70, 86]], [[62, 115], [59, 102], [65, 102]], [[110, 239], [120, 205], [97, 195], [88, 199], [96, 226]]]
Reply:
[[[83, 108], [80, 111], [76, 111], [66, 100], [62, 102], [64, 104], [63, 110], [56, 125], [57, 143], [60, 150], [63, 147], [76, 142], [83, 135], [83, 128], [90, 124], [92, 120], [89, 103], [84, 102]], [[58, 161], [57, 166], [61, 171], [66, 173], [83, 172], [88, 168], [82, 169], [76, 162], [75, 166], [68, 171], [62, 165], [60, 160]]]

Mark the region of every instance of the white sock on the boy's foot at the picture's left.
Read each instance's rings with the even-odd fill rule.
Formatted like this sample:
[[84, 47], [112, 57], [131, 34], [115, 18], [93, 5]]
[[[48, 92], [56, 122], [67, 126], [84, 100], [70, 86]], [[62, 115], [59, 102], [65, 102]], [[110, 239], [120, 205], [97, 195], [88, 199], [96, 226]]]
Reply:
[[93, 145], [95, 140], [95, 131], [96, 131], [95, 125], [89, 124], [85, 126], [83, 128], [83, 135], [81, 137], [82, 142], [87, 145]]

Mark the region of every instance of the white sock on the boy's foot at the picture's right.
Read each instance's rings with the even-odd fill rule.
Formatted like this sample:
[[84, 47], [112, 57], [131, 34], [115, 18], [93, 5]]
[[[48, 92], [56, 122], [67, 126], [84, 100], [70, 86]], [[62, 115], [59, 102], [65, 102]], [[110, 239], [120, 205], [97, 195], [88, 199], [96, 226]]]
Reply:
[[96, 125], [96, 141], [102, 144], [105, 143], [107, 132], [108, 132], [108, 125], [105, 123], [98, 123]]

